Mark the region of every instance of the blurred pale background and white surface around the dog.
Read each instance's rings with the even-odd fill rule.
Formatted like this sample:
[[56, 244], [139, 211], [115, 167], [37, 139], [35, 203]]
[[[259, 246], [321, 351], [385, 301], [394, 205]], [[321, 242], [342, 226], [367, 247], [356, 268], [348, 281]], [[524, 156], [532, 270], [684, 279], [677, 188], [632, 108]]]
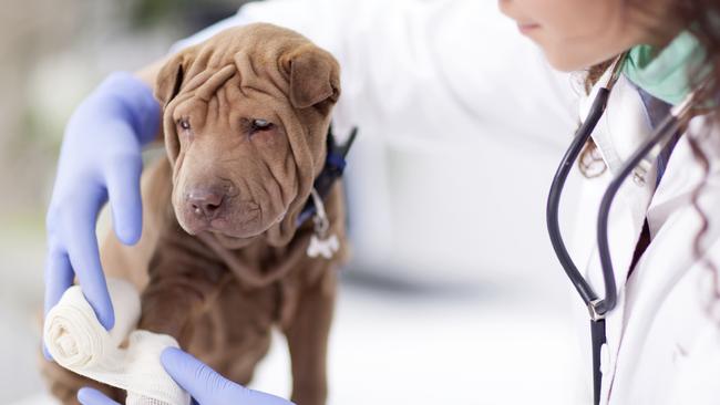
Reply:
[[[37, 372], [43, 218], [73, 107], [109, 72], [155, 60], [239, 4], [0, 1], [0, 402], [52, 401]], [[342, 271], [330, 403], [587, 402], [577, 339], [586, 324], [570, 320], [578, 303], [543, 222], [562, 142], [485, 134], [448, 146], [373, 135], [361, 133], [351, 152], [354, 260]], [[369, 149], [383, 165], [361, 181]], [[380, 201], [381, 222], [357, 207], [367, 196]], [[287, 395], [277, 341], [254, 386]]]

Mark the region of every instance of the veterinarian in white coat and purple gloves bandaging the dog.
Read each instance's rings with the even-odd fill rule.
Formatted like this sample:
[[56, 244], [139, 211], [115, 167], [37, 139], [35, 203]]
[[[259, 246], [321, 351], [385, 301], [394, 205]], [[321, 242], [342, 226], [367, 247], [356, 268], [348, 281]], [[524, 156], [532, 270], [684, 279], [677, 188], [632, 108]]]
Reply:
[[[568, 144], [578, 139], [568, 135], [574, 131], [568, 123], [577, 122], [578, 114], [567, 108], [573, 91], [566, 76], [534, 61], [503, 28], [476, 27], [479, 15], [496, 12], [486, 3], [251, 3], [176, 49], [226, 27], [272, 22], [307, 34], [338, 58], [344, 90], [337, 110], [341, 125], [352, 122], [390, 131], [381, 124], [399, 123], [399, 128], [419, 137], [492, 131], [497, 136], [524, 133]], [[595, 344], [587, 352], [588, 357], [594, 354], [594, 402], [716, 404], [720, 398], [720, 131], [714, 100], [720, 79], [720, 3], [501, 0], [500, 7], [554, 68], [587, 72], [588, 95], [579, 102], [579, 121], [586, 125], [577, 136], [592, 134], [592, 138], [568, 152], [554, 183], [562, 186], [563, 167], [578, 172], [583, 179], [583, 200], [577, 206], [582, 220], [568, 248], [572, 258], [553, 226], [557, 208], [553, 198], [548, 225], [563, 267], [590, 311]], [[452, 46], [432, 46], [433, 39], [457, 32], [453, 30], [465, 33]], [[457, 54], [474, 59], [456, 63]], [[445, 58], [451, 63], [444, 63]], [[160, 106], [151, 86], [161, 64], [136, 77], [113, 74], [79, 106], [68, 125], [48, 214], [47, 308], [78, 276], [101, 322], [113, 325], [95, 218], [110, 200], [117, 237], [128, 245], [140, 238], [141, 149], [158, 129]], [[515, 69], [503, 75], [516, 85], [498, 89], [487, 83], [485, 74], [508, 65]], [[515, 120], [495, 122], [496, 116], [507, 117], [503, 108], [508, 105]], [[462, 115], [475, 107], [483, 108], [483, 120]], [[664, 135], [659, 146], [626, 170], [627, 162], [658, 133]], [[577, 162], [570, 158], [575, 155]], [[629, 178], [614, 181], [620, 175]], [[483, 176], [477, 174], [475, 187], [482, 187]], [[611, 215], [600, 215], [598, 221], [598, 210], [609, 208], [600, 204], [603, 196], [615, 186], [619, 189], [617, 196], [609, 194], [616, 197]], [[554, 187], [555, 198], [559, 189]], [[601, 242], [605, 237], [607, 246]], [[608, 269], [613, 270], [609, 277]], [[587, 312], [578, 316], [588, 320]], [[161, 360], [200, 404], [286, 403], [227, 382], [179, 350], [167, 350]], [[110, 403], [95, 391], [81, 391], [79, 397], [84, 404]]]

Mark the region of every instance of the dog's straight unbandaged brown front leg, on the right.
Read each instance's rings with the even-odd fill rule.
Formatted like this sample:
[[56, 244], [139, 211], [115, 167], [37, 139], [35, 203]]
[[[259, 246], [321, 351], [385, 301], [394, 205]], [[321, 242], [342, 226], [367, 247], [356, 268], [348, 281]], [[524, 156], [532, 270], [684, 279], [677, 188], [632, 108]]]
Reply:
[[323, 405], [328, 396], [327, 353], [336, 280], [336, 272], [327, 269], [304, 289], [284, 331], [292, 362], [292, 402], [298, 405]]

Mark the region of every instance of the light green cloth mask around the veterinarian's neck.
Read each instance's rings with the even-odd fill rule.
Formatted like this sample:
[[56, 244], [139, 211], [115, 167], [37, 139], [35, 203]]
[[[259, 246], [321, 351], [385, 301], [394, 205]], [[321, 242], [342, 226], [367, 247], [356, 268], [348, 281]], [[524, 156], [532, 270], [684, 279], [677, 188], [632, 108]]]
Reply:
[[683, 31], [662, 49], [651, 45], [630, 49], [623, 73], [654, 97], [676, 105], [690, 94], [689, 74], [697, 71], [703, 56], [698, 39]]

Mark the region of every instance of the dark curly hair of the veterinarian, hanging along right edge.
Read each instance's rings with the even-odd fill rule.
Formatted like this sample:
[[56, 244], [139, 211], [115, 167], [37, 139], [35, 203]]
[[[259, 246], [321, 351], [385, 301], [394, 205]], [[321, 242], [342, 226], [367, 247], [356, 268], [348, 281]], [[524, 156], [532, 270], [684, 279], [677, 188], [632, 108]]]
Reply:
[[[636, 7], [639, 9], [645, 8], [646, 11], [652, 12], [644, 0], [626, 0], [628, 7]], [[708, 120], [706, 127], [700, 134], [693, 136], [686, 136], [696, 160], [703, 169], [703, 178], [700, 184], [693, 189], [691, 196], [692, 207], [696, 209], [701, 218], [701, 226], [693, 240], [693, 255], [697, 260], [701, 261], [706, 269], [710, 272], [712, 280], [712, 297], [708, 304], [708, 311], [711, 310], [713, 303], [720, 302], [720, 271], [718, 266], [707, 258], [706, 251], [702, 248], [703, 238], [708, 233], [709, 221], [702, 207], [700, 207], [700, 195], [702, 190], [708, 187], [708, 177], [710, 174], [710, 157], [703, 150], [700, 141], [713, 136], [711, 128], [720, 127], [720, 104], [718, 95], [720, 95], [720, 0], [675, 0], [671, 6], [670, 15], [676, 18], [676, 21], [668, 21], [669, 23], [677, 23], [678, 27], [692, 33], [701, 44], [702, 49], [702, 63], [692, 66], [689, 74], [689, 82], [693, 87], [700, 86], [707, 77], [706, 74], [699, 74], [699, 70], [703, 72], [709, 71], [710, 82], [703, 85], [702, 94], [700, 94], [700, 103], [702, 105], [714, 105], [710, 110], [704, 110]], [[590, 87], [599, 80], [600, 75], [609, 68], [611, 61], [599, 63], [589, 68], [585, 74], [585, 90], [589, 92]], [[714, 136], [718, 136], [717, 134]], [[599, 160], [599, 162], [598, 162]], [[605, 167], [598, 170], [598, 164], [601, 164], [601, 158], [597, 153], [597, 148], [590, 139], [580, 158], [578, 159], [578, 167], [585, 177], [592, 178], [599, 176]]]

